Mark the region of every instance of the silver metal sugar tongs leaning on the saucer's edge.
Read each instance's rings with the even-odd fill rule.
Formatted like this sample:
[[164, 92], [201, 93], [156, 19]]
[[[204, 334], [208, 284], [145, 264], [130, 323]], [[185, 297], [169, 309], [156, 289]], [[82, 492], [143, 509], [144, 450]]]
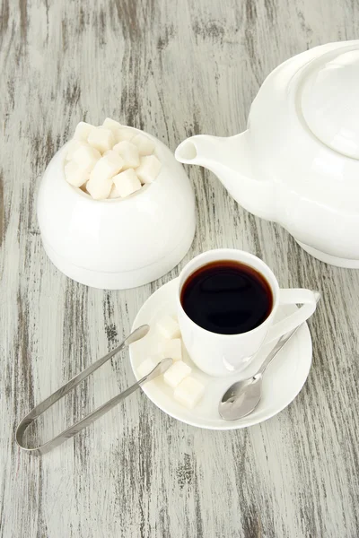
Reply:
[[146, 376], [142, 377], [135, 385], [129, 386], [125, 391], [120, 393], [117, 396], [114, 396], [109, 400], [109, 402], [106, 402], [106, 404], [101, 405], [94, 411], [92, 411], [90, 414], [85, 416], [81, 421], [76, 422], [67, 430], [62, 431], [59, 433], [55, 438], [50, 439], [43, 445], [39, 447], [34, 448], [28, 448], [24, 447], [23, 445], [23, 436], [25, 431], [29, 428], [31, 423], [35, 421], [39, 415], [41, 415], [43, 412], [45, 412], [51, 405], [55, 404], [63, 398], [67, 393], [69, 393], [75, 386], [79, 385], [83, 379], [90, 376], [92, 372], [94, 372], [96, 369], [99, 369], [102, 364], [107, 362], [109, 359], [111, 359], [118, 351], [122, 351], [125, 347], [128, 347], [130, 343], [134, 343], [137, 340], [140, 340], [143, 338], [148, 331], [150, 330], [149, 325], [141, 325], [138, 327], [133, 333], [129, 334], [127, 338], [118, 345], [117, 348], [115, 348], [112, 351], [109, 351], [107, 355], [104, 357], [101, 357], [101, 359], [96, 360], [93, 364], [88, 366], [87, 368], [83, 369], [82, 372], [77, 374], [77, 376], [74, 376], [70, 381], [67, 381], [67, 383], [60, 388], [57, 389], [56, 392], [54, 392], [52, 395], [49, 395], [48, 398], [43, 400], [40, 404], [36, 405], [31, 412], [29, 412], [20, 422], [19, 426], [16, 429], [16, 442], [23, 450], [28, 452], [29, 454], [32, 454], [34, 456], [40, 456], [42, 454], [46, 454], [49, 450], [52, 450], [52, 448], [58, 447], [58, 445], [61, 445], [66, 439], [74, 437], [76, 433], [86, 428], [86, 426], [89, 426], [92, 424], [92, 422], [97, 421], [97, 419], [100, 419], [102, 415], [104, 415], [106, 412], [108, 412], [112, 407], [115, 407], [121, 400], [124, 400], [127, 398], [128, 395], [131, 395], [133, 392], [136, 391], [137, 388], [144, 385], [147, 381], [151, 381], [154, 379], [154, 377], [161, 376], [167, 369], [170, 368], [173, 360], [172, 359], [163, 359], [161, 362], [157, 364], [153, 368], [153, 370], [147, 374]]

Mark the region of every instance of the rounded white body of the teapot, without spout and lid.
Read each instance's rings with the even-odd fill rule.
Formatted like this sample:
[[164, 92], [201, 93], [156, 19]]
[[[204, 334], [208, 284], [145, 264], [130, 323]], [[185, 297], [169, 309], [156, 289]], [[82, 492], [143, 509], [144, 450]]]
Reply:
[[312, 134], [298, 103], [308, 65], [346, 46], [313, 48], [269, 74], [250, 109], [248, 145], [253, 177], [273, 188], [272, 220], [322, 261], [359, 267], [359, 161]]

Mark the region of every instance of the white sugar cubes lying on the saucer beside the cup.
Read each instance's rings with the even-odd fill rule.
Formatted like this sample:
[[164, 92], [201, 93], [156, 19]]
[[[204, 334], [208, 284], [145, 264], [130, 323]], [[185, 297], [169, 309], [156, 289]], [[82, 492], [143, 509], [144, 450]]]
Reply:
[[205, 386], [190, 376], [192, 369], [182, 360], [180, 325], [173, 317], [165, 316], [157, 323], [157, 330], [162, 337], [158, 353], [138, 366], [138, 375], [146, 376], [162, 359], [173, 359], [172, 366], [163, 374], [163, 381], [174, 389], [173, 397], [177, 402], [193, 409], [202, 398]]

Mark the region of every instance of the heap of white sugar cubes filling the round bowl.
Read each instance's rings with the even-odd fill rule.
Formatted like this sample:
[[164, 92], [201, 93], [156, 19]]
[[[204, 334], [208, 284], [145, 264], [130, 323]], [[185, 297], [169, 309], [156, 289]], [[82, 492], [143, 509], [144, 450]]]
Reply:
[[80, 122], [68, 145], [65, 176], [94, 200], [125, 198], [157, 178], [161, 162], [143, 133], [107, 117], [102, 126]]

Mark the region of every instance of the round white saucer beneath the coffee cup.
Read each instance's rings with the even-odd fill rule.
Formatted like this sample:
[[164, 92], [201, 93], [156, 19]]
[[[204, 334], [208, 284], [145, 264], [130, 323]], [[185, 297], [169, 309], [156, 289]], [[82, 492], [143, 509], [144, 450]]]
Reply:
[[[156, 331], [156, 322], [166, 314], [176, 316], [176, 291], [178, 279], [164, 284], [147, 299], [138, 312], [132, 329], [139, 325], [148, 324], [150, 332], [142, 340], [131, 344], [130, 360], [136, 379], [138, 379], [136, 367], [149, 355], [155, 354], [160, 341]], [[295, 307], [282, 307], [278, 318], [284, 317]], [[290, 404], [302, 389], [309, 370], [311, 369], [311, 334], [308, 325], [303, 325], [290, 342], [270, 364], [263, 377], [263, 395], [257, 409], [239, 421], [223, 421], [218, 414], [218, 404], [225, 390], [235, 381], [254, 374], [263, 357], [273, 347], [273, 343], [258, 352], [256, 358], [241, 373], [230, 377], [210, 377], [197, 369], [194, 363], [185, 355], [185, 361], [193, 368], [193, 375], [206, 386], [203, 399], [197, 406], [188, 410], [176, 402], [173, 390], [161, 379], [155, 379], [143, 386], [144, 394], [153, 404], [156, 404], [163, 412], [171, 417], [186, 422], [191, 426], [206, 428], [207, 430], [237, 430], [246, 428], [258, 422], [266, 421], [276, 415]]]

